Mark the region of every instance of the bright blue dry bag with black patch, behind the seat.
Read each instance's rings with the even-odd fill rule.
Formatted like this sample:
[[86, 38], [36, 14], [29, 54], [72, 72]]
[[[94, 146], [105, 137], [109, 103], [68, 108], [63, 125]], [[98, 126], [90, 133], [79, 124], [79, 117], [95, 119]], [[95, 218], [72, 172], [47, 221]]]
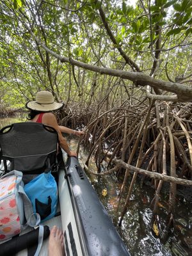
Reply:
[[40, 214], [41, 222], [56, 214], [58, 187], [51, 172], [41, 173], [24, 186], [33, 205], [33, 211]]

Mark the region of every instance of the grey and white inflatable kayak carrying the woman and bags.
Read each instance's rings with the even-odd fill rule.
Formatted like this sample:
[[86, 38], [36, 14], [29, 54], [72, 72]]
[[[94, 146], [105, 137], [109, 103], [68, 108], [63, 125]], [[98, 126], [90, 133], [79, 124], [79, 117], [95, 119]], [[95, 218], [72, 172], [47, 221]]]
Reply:
[[[65, 152], [62, 155], [64, 159]], [[0, 164], [2, 167], [3, 161]], [[59, 166], [58, 199], [56, 215], [50, 220], [44, 221], [43, 225], [50, 229], [56, 225], [63, 230], [65, 255], [130, 255], [76, 157], [68, 157], [66, 163], [62, 161]], [[30, 232], [31, 228], [27, 228], [20, 236], [25, 234], [24, 237], [26, 237]], [[12, 242], [13, 239], [6, 241], [6, 247], [9, 250], [10, 246], [15, 246], [15, 243]], [[44, 239], [40, 256], [47, 255], [48, 241], [49, 239]], [[0, 244], [0, 255], [4, 250], [3, 244], [5, 243]], [[31, 255], [30, 248], [22, 246], [20, 248], [22, 250], [16, 255]], [[12, 252], [15, 253], [15, 248], [12, 249]]]

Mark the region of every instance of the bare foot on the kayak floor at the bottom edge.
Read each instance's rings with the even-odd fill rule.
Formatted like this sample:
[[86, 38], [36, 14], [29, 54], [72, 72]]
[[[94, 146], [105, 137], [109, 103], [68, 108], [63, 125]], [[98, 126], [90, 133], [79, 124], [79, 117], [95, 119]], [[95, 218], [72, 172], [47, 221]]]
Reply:
[[56, 226], [51, 228], [49, 236], [49, 256], [63, 256], [64, 252], [64, 241], [63, 241], [63, 232]]

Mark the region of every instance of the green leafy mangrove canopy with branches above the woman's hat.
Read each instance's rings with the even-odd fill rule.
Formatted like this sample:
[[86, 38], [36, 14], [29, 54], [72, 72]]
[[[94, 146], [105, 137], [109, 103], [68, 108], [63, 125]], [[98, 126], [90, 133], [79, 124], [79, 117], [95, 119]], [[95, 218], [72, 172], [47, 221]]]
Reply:
[[90, 106], [137, 86], [138, 96], [190, 101], [191, 12], [191, 0], [1, 1], [1, 104], [44, 89]]

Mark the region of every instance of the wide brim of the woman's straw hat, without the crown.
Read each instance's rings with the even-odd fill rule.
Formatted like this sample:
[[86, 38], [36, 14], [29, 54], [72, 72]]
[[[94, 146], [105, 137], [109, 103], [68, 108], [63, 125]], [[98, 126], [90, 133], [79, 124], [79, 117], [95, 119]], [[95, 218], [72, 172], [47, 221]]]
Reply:
[[51, 104], [39, 104], [36, 101], [30, 101], [26, 104], [26, 107], [36, 111], [48, 112], [62, 108], [63, 103], [53, 102]]

